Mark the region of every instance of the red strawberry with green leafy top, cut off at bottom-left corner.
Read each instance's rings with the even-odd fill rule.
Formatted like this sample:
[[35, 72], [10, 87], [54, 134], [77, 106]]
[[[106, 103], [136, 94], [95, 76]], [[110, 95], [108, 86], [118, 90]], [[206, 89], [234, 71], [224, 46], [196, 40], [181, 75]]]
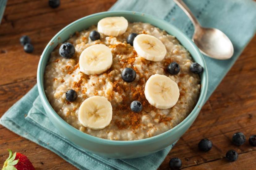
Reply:
[[35, 170], [27, 156], [16, 152], [12, 154], [10, 149], [7, 150], [9, 157], [4, 162], [2, 170]]

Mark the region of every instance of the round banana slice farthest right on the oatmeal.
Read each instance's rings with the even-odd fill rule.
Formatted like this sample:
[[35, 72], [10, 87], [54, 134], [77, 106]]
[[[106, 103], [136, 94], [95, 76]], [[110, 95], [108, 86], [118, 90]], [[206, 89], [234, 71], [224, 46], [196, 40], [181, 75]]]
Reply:
[[152, 75], [145, 85], [147, 101], [158, 109], [173, 107], [180, 96], [177, 83], [165, 75]]

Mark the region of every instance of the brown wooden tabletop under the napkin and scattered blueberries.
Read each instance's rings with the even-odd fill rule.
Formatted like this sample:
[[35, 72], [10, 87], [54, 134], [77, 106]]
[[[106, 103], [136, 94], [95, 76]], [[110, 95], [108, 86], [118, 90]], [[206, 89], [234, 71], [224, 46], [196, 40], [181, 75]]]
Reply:
[[[68, 23], [83, 16], [108, 10], [116, 0], [61, 0], [52, 9], [47, 0], [8, 0], [0, 26], [0, 117], [36, 83], [40, 55], [49, 40]], [[19, 44], [22, 35], [32, 39], [35, 51], [27, 54]], [[231, 143], [235, 132], [248, 140], [256, 134], [256, 36], [207, 101], [198, 118], [168, 154], [160, 170], [168, 170], [172, 157], [184, 169], [255, 169], [256, 147], [248, 141], [241, 147]], [[210, 152], [199, 152], [198, 142], [213, 142]], [[76, 169], [55, 153], [0, 125], [0, 164], [8, 157], [6, 148], [29, 157], [36, 169]], [[226, 152], [239, 153], [236, 162], [224, 159]]]

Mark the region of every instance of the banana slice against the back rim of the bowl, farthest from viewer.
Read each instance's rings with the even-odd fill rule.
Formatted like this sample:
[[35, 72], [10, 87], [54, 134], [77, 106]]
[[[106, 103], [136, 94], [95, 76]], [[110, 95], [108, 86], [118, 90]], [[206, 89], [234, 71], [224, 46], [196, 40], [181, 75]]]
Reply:
[[124, 17], [107, 17], [98, 22], [98, 31], [114, 37], [125, 33], [128, 21]]

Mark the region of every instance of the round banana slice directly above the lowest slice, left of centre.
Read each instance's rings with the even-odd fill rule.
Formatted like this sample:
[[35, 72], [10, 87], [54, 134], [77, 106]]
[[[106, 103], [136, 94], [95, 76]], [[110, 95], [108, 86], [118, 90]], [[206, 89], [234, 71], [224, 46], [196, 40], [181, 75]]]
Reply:
[[112, 65], [112, 53], [104, 44], [92, 45], [83, 50], [79, 58], [80, 71], [86, 75], [101, 74]]

